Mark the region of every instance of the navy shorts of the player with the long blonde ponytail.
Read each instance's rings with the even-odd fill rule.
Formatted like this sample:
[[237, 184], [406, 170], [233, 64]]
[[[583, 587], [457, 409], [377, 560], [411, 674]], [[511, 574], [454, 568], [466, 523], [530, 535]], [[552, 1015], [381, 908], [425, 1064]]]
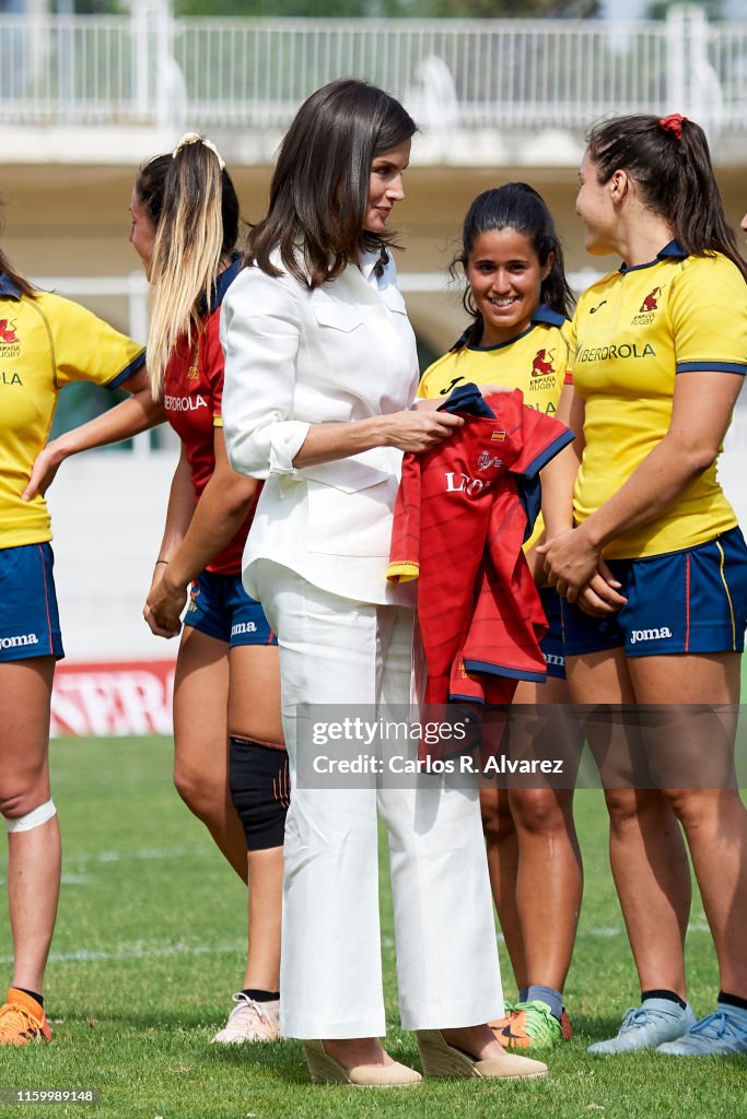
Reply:
[[278, 643], [262, 606], [246, 594], [241, 575], [204, 571], [192, 584], [184, 623], [225, 641], [232, 649], [239, 645]]

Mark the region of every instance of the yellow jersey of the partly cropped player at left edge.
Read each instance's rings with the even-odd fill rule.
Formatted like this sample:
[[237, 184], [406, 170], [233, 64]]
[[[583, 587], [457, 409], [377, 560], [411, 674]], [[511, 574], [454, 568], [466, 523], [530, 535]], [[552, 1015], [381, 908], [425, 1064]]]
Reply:
[[116, 388], [146, 360], [142, 346], [60, 295], [22, 295], [0, 274], [0, 547], [52, 539], [44, 498], [21, 501], [63, 385]]

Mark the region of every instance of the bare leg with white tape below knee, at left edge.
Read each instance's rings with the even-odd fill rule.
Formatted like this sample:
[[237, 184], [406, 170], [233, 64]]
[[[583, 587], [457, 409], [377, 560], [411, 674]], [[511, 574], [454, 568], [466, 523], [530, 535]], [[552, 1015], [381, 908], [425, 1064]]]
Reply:
[[[52, 657], [0, 665], [0, 811], [26, 816], [49, 800]], [[59, 897], [59, 825], [54, 816], [8, 837], [8, 901], [13, 986], [43, 994]]]

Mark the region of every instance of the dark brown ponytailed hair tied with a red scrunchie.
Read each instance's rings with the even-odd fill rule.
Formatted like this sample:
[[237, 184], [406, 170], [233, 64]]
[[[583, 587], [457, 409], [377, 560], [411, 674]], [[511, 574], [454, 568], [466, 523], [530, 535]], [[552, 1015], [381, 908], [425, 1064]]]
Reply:
[[706, 133], [687, 117], [667, 128], [657, 116], [615, 116], [587, 137], [599, 182], [617, 170], [635, 179], [643, 201], [669, 222], [691, 256], [722, 253], [747, 280], [747, 262], [723, 213]]

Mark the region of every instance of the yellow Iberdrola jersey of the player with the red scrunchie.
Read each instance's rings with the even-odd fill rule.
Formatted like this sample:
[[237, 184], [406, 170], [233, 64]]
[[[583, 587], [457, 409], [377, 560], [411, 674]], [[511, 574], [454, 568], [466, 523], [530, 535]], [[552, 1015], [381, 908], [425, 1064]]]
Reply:
[[[666, 434], [675, 376], [747, 373], [747, 284], [720, 253], [688, 256], [676, 242], [651, 264], [592, 284], [573, 318], [570, 367], [585, 404], [577, 524], [616, 493]], [[716, 463], [654, 521], [617, 537], [611, 558], [662, 555], [734, 528]]]

